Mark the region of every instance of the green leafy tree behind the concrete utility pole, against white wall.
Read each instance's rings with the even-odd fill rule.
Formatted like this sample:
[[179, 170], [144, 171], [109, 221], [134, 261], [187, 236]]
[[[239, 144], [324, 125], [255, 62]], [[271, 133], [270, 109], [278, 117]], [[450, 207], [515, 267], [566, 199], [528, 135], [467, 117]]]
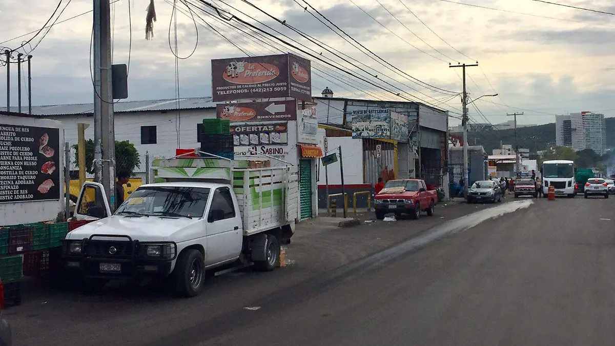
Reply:
[[[79, 165], [79, 152], [77, 151], [77, 145], [74, 144], [75, 150], [75, 162]], [[116, 140], [116, 175], [128, 175], [132, 177], [135, 173], [135, 168], [141, 164], [141, 158], [139, 152], [133, 143], [128, 140], [118, 142]], [[94, 161], [94, 141], [92, 139], [85, 141], [85, 171], [89, 174], [93, 174], [93, 161]]]

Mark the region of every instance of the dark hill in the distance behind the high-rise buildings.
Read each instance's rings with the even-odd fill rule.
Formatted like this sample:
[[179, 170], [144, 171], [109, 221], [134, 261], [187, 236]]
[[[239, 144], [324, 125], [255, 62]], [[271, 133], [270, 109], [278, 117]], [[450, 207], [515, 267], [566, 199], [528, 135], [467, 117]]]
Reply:
[[[606, 146], [615, 147], [615, 118], [606, 118]], [[461, 135], [460, 133], [456, 133]], [[536, 140], [531, 137], [536, 136]], [[482, 145], [488, 155], [493, 153], [494, 148], [502, 144], [515, 144], [515, 129], [494, 130], [480, 129], [479, 131], [468, 131], [467, 139], [470, 145]], [[545, 150], [555, 147], [555, 123], [519, 127], [517, 129], [517, 141], [520, 148], [528, 148], [531, 153], [538, 150]]]

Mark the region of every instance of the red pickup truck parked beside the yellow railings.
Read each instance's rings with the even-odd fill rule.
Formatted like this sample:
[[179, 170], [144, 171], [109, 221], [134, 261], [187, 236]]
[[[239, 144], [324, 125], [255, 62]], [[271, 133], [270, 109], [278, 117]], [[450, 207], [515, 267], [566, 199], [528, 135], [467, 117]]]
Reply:
[[387, 213], [396, 216], [410, 214], [412, 219], [418, 219], [421, 211], [434, 215], [435, 204], [438, 203], [438, 191], [427, 190], [427, 185], [421, 179], [389, 180], [384, 188], [375, 196], [376, 219], [384, 219]]

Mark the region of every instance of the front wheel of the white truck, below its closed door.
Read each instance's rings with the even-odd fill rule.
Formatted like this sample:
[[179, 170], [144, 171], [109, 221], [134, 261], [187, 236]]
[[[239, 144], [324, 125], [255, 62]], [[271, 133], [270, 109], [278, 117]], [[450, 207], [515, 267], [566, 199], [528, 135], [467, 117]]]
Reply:
[[184, 297], [197, 296], [203, 289], [205, 268], [203, 254], [197, 249], [181, 252], [173, 270], [175, 291]]

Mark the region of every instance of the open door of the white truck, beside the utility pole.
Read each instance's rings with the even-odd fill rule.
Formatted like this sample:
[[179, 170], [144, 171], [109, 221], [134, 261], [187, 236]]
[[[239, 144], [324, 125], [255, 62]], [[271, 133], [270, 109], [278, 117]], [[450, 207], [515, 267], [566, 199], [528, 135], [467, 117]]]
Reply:
[[77, 220], [98, 220], [111, 215], [111, 208], [103, 185], [85, 182], [81, 187], [73, 216]]

